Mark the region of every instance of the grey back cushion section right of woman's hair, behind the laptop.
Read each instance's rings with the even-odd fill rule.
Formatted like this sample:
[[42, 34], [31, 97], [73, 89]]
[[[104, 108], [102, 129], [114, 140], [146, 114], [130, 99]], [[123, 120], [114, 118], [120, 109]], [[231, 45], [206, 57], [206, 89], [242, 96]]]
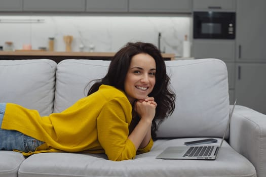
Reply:
[[176, 108], [157, 136], [222, 137], [230, 112], [225, 63], [200, 59], [166, 61], [166, 65], [177, 97]]

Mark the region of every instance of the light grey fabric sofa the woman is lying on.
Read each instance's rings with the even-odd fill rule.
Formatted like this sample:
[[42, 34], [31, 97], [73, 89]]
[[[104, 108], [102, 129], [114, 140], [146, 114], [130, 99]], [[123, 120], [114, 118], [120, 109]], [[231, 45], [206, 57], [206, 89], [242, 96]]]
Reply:
[[[109, 61], [0, 60], [0, 102], [41, 115], [60, 112], [85, 97], [87, 83], [101, 78]], [[166, 147], [215, 137], [230, 109], [227, 69], [218, 59], [166, 61], [176, 109], [158, 131], [150, 152], [114, 162], [105, 154], [42, 153], [25, 158], [0, 151], [0, 176], [266, 176], [266, 115], [237, 105], [216, 160], [156, 159]]]

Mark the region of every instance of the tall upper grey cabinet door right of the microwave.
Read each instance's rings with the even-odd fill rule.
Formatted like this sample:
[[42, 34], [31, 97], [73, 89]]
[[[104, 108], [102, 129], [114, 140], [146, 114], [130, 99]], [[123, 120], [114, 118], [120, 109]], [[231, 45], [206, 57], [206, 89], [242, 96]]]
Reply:
[[237, 3], [237, 60], [266, 62], [266, 1]]

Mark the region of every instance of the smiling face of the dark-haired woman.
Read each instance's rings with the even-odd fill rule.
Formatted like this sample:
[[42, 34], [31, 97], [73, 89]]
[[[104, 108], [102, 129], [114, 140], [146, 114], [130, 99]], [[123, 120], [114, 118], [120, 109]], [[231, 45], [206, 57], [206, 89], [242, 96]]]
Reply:
[[125, 79], [125, 93], [131, 104], [145, 99], [155, 85], [156, 63], [148, 54], [137, 54], [132, 57]]

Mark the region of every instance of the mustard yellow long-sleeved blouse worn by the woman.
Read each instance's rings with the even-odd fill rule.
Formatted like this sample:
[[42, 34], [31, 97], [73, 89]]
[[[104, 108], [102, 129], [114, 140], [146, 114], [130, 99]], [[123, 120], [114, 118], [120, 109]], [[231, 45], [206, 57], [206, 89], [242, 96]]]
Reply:
[[[2, 129], [13, 129], [45, 142], [31, 155], [41, 152], [105, 153], [109, 160], [133, 159], [134, 144], [128, 139], [132, 106], [124, 92], [101, 85], [92, 95], [80, 99], [61, 113], [41, 117], [36, 110], [8, 103]], [[148, 152], [153, 140], [139, 149]]]

